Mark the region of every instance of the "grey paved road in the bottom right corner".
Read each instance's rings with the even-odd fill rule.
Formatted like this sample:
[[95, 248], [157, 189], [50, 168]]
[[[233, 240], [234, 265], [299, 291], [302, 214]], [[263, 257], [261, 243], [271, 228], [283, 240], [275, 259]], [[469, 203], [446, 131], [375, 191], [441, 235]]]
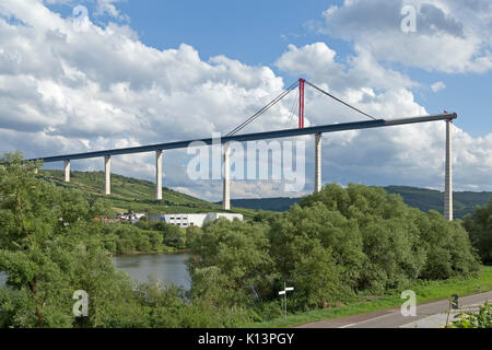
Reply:
[[[459, 299], [461, 310], [477, 310], [485, 301], [492, 301], [492, 291]], [[402, 301], [403, 302], [403, 301]], [[402, 316], [400, 308], [379, 311], [370, 314], [332, 318], [300, 325], [296, 328], [437, 328], [446, 324], [447, 300], [418, 304], [417, 316]], [[449, 316], [449, 320], [453, 315]]]

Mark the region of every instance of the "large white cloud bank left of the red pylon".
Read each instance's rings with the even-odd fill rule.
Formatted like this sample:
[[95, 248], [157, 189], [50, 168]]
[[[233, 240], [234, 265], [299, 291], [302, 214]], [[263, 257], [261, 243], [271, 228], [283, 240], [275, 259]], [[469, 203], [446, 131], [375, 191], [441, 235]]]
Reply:
[[[268, 67], [203, 61], [186, 44], [157, 50], [126, 25], [89, 22], [81, 31], [42, 1], [0, 1], [0, 13], [2, 152], [34, 158], [225, 133], [284, 88]], [[284, 128], [291, 117], [279, 105], [248, 131]], [[171, 187], [186, 171], [186, 154], [173, 154], [164, 158]], [[73, 163], [101, 168], [98, 160]], [[150, 154], [115, 158], [113, 167], [153, 177]]]

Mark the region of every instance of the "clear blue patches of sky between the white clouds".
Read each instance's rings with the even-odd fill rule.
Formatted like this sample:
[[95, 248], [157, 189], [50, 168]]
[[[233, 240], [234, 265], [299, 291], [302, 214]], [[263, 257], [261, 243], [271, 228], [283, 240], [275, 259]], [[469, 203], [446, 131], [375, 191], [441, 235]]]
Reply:
[[[52, 4], [63, 16], [72, 15], [73, 5]], [[84, 3], [95, 9], [95, 3]], [[167, 1], [125, 0], [117, 9], [126, 14], [127, 23], [145, 45], [167, 49], [185, 43], [195, 47], [201, 59], [225, 55], [251, 66], [269, 66], [288, 82], [292, 77], [279, 71], [274, 61], [285, 51], [288, 44], [297, 47], [325, 42], [333, 48], [340, 60], [353, 54], [352, 43], [319, 34], [313, 25], [323, 26], [323, 12], [343, 1]], [[97, 16], [99, 23], [114, 21]], [[437, 47], [436, 50], [440, 48]], [[446, 88], [437, 93], [430, 89], [414, 89], [415, 100], [429, 113], [443, 109], [459, 113], [456, 125], [473, 137], [483, 137], [492, 130], [492, 73], [442, 73], [420, 68], [398, 67], [413, 80], [430, 86], [436, 81]]]

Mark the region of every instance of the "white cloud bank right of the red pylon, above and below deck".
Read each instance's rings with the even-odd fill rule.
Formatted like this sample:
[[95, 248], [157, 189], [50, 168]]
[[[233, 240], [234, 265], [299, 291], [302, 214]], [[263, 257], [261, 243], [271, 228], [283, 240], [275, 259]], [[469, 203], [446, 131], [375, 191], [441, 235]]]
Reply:
[[[325, 55], [317, 55], [316, 50]], [[336, 52], [324, 43], [301, 48], [290, 46], [278, 59], [277, 65], [289, 72], [298, 74], [306, 72], [313, 77], [321, 77], [320, 80], [330, 82], [330, 84], [321, 83], [324, 89], [337, 92], [342, 100], [380, 118], [429, 114], [415, 102], [413, 93], [405, 88], [407, 80], [400, 73], [380, 67], [376, 60], [367, 60], [366, 66], [359, 67], [360, 63], [353, 62], [360, 62], [360, 57], [353, 57], [349, 59], [348, 65], [340, 67], [333, 62], [333, 57]], [[339, 68], [343, 71], [340, 74], [348, 79], [339, 79], [336, 75], [336, 72], [340, 71]], [[396, 77], [393, 83], [384, 82], [384, 78], [390, 80], [391, 74]], [[407, 86], [412, 84], [408, 83]], [[444, 88], [442, 82], [434, 86], [435, 90], [442, 88]], [[344, 106], [327, 102], [324, 96], [313, 92], [308, 93], [308, 97], [306, 110], [309, 113], [306, 115], [314, 125], [364, 118]], [[377, 185], [432, 186], [442, 189], [444, 136], [444, 122], [325, 135], [324, 179], [342, 184], [352, 180]], [[456, 188], [473, 190], [476, 189], [473, 184], [480, 184], [478, 186], [482, 189], [492, 188], [487, 175], [487, 172], [492, 172], [491, 140], [492, 133], [473, 139], [458, 127], [454, 127]], [[307, 152], [313, 152], [313, 149], [308, 149]], [[311, 162], [312, 158], [308, 155], [306, 159]], [[307, 168], [313, 166], [311, 163]], [[479, 171], [476, 172], [476, 168]]]

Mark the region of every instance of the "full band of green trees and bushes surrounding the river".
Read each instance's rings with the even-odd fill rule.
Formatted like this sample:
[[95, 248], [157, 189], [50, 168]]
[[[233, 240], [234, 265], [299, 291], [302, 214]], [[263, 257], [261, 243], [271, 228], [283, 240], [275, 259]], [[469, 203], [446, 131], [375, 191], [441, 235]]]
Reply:
[[[284, 281], [295, 288], [291, 311], [301, 312], [415, 280], [466, 278], [479, 268], [477, 252], [490, 254], [473, 248], [460, 221], [380, 188], [326, 185], [281, 214], [184, 231], [94, 222], [108, 210], [101, 199], [39, 178], [39, 164], [19, 153], [0, 163], [0, 327], [234, 327], [279, 316]], [[487, 243], [490, 214], [477, 213], [465, 226], [471, 242]], [[165, 247], [190, 248], [190, 291], [137, 283], [112, 260]], [[86, 317], [72, 313], [77, 290], [89, 294]]]

